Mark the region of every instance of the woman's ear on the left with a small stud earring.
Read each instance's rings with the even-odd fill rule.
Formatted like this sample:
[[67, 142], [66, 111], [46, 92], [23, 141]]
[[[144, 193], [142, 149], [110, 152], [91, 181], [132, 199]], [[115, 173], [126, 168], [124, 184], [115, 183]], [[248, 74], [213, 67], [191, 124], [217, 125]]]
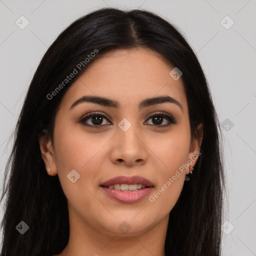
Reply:
[[41, 135], [38, 138], [41, 156], [45, 164], [45, 169], [47, 171], [50, 168], [50, 172], [47, 171], [48, 175], [54, 176], [57, 174], [56, 171], [56, 164], [55, 164], [55, 156], [53, 151], [53, 146], [51, 140], [48, 138], [47, 135]]

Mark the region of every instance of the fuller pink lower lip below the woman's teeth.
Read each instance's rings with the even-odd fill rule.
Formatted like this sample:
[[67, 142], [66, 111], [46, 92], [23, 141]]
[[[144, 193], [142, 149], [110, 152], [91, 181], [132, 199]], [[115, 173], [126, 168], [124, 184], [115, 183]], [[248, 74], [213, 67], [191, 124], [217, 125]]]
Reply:
[[137, 202], [144, 197], [146, 197], [153, 189], [153, 187], [145, 187], [135, 191], [121, 191], [117, 189], [110, 189], [104, 186], [101, 186], [103, 190], [111, 198], [124, 203]]

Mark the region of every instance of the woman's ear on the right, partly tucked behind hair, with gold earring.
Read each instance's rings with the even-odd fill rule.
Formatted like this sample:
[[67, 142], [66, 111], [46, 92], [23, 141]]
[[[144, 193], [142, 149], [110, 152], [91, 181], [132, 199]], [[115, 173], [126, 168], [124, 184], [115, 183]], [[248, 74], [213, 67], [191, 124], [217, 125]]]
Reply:
[[[189, 148], [189, 153], [188, 153], [188, 159], [190, 160], [189, 163], [190, 166], [194, 166], [198, 157], [199, 157], [199, 151], [200, 151], [200, 146], [202, 143], [202, 137], [203, 137], [203, 125], [202, 123], [199, 123], [196, 127], [196, 132], [195, 132], [195, 136], [191, 139], [190, 142], [190, 148]], [[189, 173], [189, 168], [187, 168], [186, 170], [186, 174]]]

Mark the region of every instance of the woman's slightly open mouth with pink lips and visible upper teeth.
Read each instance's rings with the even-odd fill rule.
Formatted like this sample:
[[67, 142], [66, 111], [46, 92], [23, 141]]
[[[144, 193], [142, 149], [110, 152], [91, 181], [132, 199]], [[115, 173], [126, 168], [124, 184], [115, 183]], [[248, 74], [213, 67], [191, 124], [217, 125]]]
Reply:
[[141, 176], [118, 176], [100, 186], [109, 197], [124, 203], [139, 201], [154, 188], [151, 181]]

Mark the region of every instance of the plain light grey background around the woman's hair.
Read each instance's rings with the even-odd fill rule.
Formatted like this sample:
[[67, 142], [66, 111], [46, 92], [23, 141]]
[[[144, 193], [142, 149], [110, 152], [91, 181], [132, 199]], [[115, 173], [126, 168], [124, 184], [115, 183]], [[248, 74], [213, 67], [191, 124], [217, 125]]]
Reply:
[[[223, 255], [256, 255], [255, 0], [0, 0], [0, 188], [10, 135], [39, 60], [73, 20], [107, 5], [159, 14], [181, 29], [197, 53], [219, 120], [228, 118], [222, 127], [228, 186], [223, 222], [229, 221]], [[21, 15], [29, 21], [24, 29], [15, 24]], [[227, 15], [234, 21], [228, 29]]]

